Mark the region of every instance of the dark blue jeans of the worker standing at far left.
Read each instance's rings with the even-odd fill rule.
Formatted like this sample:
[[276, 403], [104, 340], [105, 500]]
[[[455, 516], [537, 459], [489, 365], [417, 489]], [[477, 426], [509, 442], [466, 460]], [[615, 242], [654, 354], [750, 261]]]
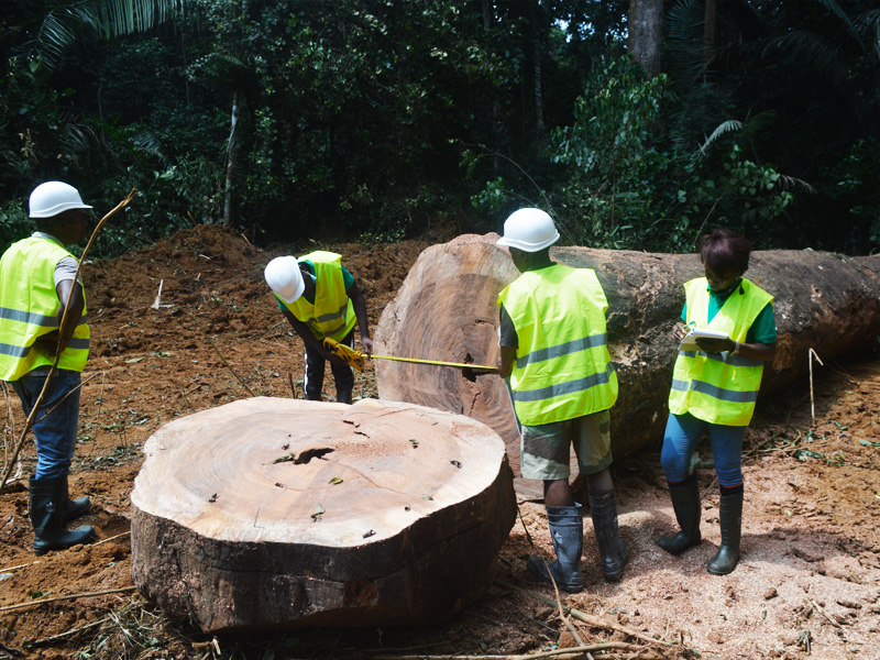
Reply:
[[[28, 374], [12, 382], [25, 415], [31, 415], [45, 382], [45, 374]], [[75, 371], [59, 369], [52, 376], [33, 425], [36, 438], [34, 479], [54, 479], [70, 472], [79, 425], [80, 382], [81, 374]]]

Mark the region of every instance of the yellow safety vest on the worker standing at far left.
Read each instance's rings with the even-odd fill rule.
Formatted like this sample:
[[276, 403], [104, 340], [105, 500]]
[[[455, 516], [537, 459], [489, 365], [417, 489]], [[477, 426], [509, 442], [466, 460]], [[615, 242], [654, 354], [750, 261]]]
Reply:
[[[73, 256], [61, 244], [31, 237], [10, 245], [0, 258], [0, 378], [18, 381], [38, 366], [52, 365], [55, 351], [34, 348], [34, 341], [58, 330], [61, 300], [55, 266]], [[85, 292], [84, 292], [85, 298]], [[89, 327], [82, 319], [58, 360], [58, 369], [81, 372], [89, 356]]]

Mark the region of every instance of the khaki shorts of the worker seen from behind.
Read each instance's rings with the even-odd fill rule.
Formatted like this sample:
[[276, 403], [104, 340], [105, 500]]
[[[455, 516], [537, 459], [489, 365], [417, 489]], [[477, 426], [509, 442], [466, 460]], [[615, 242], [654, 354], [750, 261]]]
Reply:
[[596, 474], [612, 464], [608, 410], [565, 421], [521, 427], [520, 473], [524, 479], [554, 481], [571, 476], [571, 447], [581, 474]]

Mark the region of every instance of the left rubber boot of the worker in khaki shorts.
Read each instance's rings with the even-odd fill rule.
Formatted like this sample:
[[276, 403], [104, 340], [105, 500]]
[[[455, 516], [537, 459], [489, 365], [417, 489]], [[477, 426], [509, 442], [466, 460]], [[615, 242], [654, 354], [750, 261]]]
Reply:
[[[552, 584], [570, 594], [584, 588], [581, 574], [581, 557], [584, 552], [584, 517], [581, 505], [548, 506], [547, 522], [550, 526], [550, 538], [557, 553], [556, 561], [544, 561], [531, 556], [526, 560], [526, 568], [535, 573], [541, 582]], [[552, 576], [552, 578], [551, 578]]]

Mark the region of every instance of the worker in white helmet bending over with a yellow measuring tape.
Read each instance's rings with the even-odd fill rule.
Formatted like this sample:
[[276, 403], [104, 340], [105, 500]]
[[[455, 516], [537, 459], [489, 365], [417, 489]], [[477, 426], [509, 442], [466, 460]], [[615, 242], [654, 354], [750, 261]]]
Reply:
[[366, 301], [351, 273], [342, 266], [342, 256], [317, 251], [297, 260], [295, 256], [273, 258], [265, 270], [282, 314], [306, 344], [306, 398], [321, 400], [324, 363], [337, 385], [337, 400], [352, 402], [354, 372], [345, 362], [323, 348], [330, 339], [352, 348], [355, 321], [361, 330], [361, 345], [373, 353]]

